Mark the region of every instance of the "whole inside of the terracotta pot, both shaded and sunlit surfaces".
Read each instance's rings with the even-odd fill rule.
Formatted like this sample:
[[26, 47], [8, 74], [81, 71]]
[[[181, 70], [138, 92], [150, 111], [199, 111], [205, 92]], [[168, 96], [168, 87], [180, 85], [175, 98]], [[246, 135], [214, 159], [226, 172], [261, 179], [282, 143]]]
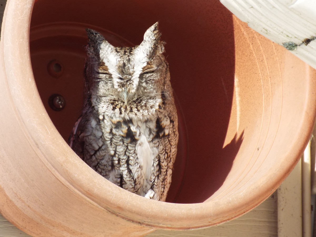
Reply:
[[[86, 27], [115, 46], [134, 46], [156, 21], [167, 42], [179, 114], [179, 152], [167, 201], [200, 203], [219, 198], [212, 196], [215, 192], [227, 195], [248, 176], [260, 179], [256, 171], [272, 162], [267, 161], [269, 150], [277, 147], [281, 126], [284, 72], [275, 70], [282, 70], [282, 60], [290, 56], [269, 42], [269, 49], [260, 51], [255, 45], [259, 40], [247, 37], [266, 41], [253, 32], [242, 34], [240, 28], [246, 26], [234, 24], [238, 20], [216, 1], [187, 1], [181, 7], [174, 1], [77, 1], [71, 10], [64, 1], [35, 3], [30, 53], [52, 122], [67, 141], [80, 116]], [[53, 94], [65, 98], [63, 110], [49, 106]]]

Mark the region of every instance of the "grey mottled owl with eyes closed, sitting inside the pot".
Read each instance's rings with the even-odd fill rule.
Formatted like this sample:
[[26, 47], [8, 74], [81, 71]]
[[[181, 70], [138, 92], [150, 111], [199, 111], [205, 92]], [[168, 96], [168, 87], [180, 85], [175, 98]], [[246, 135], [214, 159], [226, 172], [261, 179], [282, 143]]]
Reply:
[[83, 111], [69, 145], [112, 183], [165, 201], [178, 118], [158, 22], [135, 47], [114, 47], [100, 33], [86, 31]]

